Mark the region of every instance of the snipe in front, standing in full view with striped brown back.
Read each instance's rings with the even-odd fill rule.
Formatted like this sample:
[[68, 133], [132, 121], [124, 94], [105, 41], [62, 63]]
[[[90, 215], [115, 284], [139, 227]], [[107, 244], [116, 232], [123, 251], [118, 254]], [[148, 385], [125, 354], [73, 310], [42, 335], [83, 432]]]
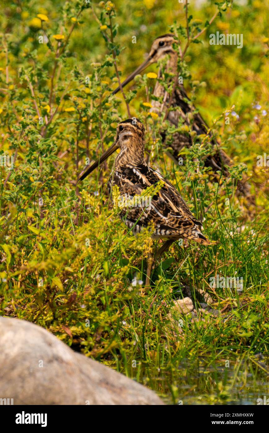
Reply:
[[194, 218], [179, 192], [160, 173], [146, 164], [145, 128], [138, 119], [127, 119], [118, 124], [113, 145], [82, 174], [79, 180], [82, 181], [88, 176], [117, 148], [120, 148], [120, 152], [108, 180], [110, 194], [114, 185], [119, 187], [120, 197], [140, 196], [150, 186], [161, 186], [148, 202], [150, 205], [144, 206], [141, 202], [141, 206], [128, 207], [124, 204], [126, 207], [120, 210], [121, 219], [133, 233], [140, 233], [143, 228], [153, 223], [152, 237], [167, 239], [154, 259], [151, 255], [148, 258], [146, 286], [149, 286], [154, 260], [158, 259], [175, 240], [187, 238], [203, 245], [209, 245], [211, 242], [201, 233], [201, 222]]

